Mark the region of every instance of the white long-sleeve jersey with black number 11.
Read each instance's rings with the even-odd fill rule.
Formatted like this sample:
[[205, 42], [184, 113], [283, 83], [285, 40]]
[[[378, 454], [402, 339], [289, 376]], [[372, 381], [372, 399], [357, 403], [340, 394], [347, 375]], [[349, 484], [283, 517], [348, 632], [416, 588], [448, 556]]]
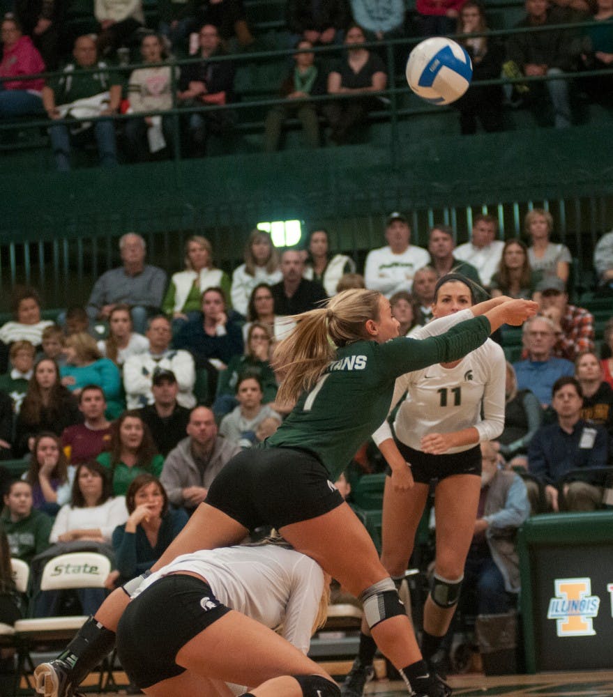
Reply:
[[[445, 332], [454, 324], [470, 319], [470, 310], [435, 320], [413, 335], [424, 339]], [[391, 408], [404, 399], [394, 422], [396, 437], [402, 443], [421, 450], [421, 438], [430, 433], [451, 433], [469, 427], [477, 429], [479, 441], [497, 438], [504, 429], [506, 369], [502, 348], [487, 339], [453, 368], [431, 365], [406, 373], [396, 380]], [[483, 408], [483, 418], [481, 411]], [[379, 445], [391, 438], [388, 422], [372, 436]], [[449, 454], [474, 447], [450, 448]]]

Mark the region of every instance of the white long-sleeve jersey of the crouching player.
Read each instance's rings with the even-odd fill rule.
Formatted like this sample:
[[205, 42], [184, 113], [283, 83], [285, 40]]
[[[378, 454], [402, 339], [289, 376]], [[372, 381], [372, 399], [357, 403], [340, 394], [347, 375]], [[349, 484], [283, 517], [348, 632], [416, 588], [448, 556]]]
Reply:
[[287, 641], [308, 652], [324, 589], [324, 572], [310, 557], [275, 544], [202, 549], [182, 554], [148, 576], [132, 597], [179, 571], [202, 576], [224, 605], [264, 627], [282, 627]]

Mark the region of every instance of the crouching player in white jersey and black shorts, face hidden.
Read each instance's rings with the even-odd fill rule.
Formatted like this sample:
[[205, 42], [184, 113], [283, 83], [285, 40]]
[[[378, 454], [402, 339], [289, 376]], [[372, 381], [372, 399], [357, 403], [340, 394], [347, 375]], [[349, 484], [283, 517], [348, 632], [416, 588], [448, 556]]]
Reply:
[[305, 656], [326, 618], [329, 581], [280, 544], [179, 556], [133, 593], [117, 629], [121, 665], [153, 697], [337, 695]]

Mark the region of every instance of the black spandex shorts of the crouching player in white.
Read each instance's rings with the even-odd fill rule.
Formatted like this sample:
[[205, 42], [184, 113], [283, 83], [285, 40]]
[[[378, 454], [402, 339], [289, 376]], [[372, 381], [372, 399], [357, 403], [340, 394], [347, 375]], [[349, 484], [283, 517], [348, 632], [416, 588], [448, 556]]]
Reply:
[[175, 662], [190, 639], [230, 608], [194, 576], [164, 576], [128, 604], [117, 628], [121, 666], [140, 689], [181, 675]]

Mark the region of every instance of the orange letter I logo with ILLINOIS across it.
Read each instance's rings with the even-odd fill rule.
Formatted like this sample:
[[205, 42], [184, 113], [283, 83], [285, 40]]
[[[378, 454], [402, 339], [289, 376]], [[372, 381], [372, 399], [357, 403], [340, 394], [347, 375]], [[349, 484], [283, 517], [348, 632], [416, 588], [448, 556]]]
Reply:
[[556, 620], [558, 636], [593, 636], [600, 598], [591, 595], [591, 579], [556, 579], [547, 619]]

